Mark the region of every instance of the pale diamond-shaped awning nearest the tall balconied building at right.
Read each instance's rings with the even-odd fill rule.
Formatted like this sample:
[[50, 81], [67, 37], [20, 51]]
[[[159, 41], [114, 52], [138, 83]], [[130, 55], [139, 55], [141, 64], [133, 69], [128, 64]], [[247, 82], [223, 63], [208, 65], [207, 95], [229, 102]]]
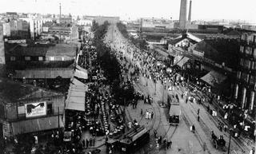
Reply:
[[212, 70], [210, 73], [207, 73], [205, 76], [201, 77], [201, 80], [205, 81], [209, 85], [215, 86], [226, 80], [226, 76]]

